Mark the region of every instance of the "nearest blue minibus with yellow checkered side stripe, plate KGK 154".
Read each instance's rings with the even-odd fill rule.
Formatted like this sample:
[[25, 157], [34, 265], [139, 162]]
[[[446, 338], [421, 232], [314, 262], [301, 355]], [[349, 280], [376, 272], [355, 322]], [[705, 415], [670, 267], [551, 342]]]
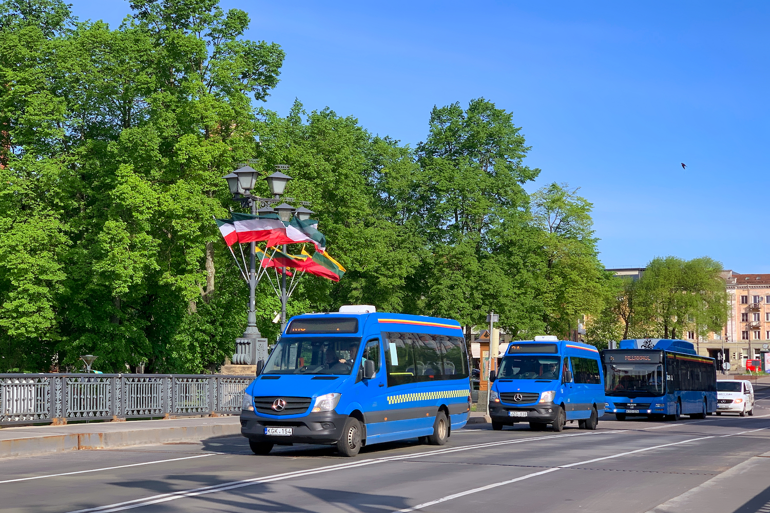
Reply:
[[460, 324], [340, 310], [290, 318], [246, 388], [241, 433], [252, 451], [325, 444], [353, 456], [363, 445], [415, 437], [444, 445], [470, 411]]

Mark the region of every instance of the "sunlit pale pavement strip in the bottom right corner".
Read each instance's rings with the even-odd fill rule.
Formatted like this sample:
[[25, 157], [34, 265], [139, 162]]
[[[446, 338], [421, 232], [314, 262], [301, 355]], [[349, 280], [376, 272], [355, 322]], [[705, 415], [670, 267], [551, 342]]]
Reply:
[[755, 513], [770, 510], [770, 452], [735, 465], [647, 513]]

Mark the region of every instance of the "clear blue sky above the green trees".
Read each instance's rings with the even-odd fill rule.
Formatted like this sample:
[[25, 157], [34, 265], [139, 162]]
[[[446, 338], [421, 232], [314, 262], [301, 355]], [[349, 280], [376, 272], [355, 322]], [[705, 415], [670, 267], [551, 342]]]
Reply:
[[[129, 2], [70, 0], [111, 26]], [[329, 106], [424, 140], [430, 108], [484, 97], [514, 113], [550, 182], [594, 203], [601, 260], [708, 255], [770, 272], [770, 4], [222, 2], [286, 51], [266, 107]], [[688, 165], [686, 170], [680, 162]]]

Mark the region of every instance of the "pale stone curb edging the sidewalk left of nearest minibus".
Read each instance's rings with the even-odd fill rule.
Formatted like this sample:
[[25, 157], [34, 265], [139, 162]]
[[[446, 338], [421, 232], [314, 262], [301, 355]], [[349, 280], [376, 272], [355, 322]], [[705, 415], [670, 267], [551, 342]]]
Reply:
[[67, 435], [30, 436], [0, 440], [0, 458], [40, 455], [80, 449], [107, 449], [129, 445], [152, 445], [174, 441], [201, 441], [206, 438], [240, 435], [240, 423], [225, 425], [174, 426]]

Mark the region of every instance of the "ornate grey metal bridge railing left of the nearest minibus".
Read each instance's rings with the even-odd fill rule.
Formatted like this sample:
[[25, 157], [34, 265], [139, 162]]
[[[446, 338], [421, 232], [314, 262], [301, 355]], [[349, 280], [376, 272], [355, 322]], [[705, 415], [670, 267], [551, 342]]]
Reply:
[[249, 376], [0, 374], [0, 425], [238, 414]]

